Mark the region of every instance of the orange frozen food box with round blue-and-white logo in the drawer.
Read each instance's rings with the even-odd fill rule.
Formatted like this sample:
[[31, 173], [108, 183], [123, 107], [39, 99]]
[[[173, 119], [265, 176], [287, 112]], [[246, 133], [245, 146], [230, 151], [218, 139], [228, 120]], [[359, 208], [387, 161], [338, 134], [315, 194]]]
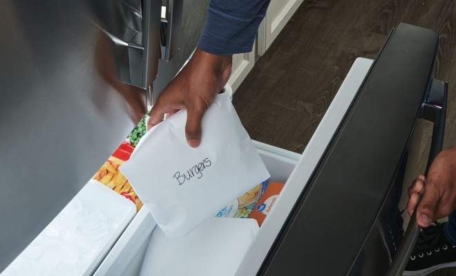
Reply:
[[283, 186], [285, 186], [285, 184], [269, 182], [265, 193], [260, 197], [254, 210], [251, 211], [249, 218], [256, 219], [258, 225], [261, 226], [266, 216], [271, 213], [272, 208], [274, 208], [274, 204], [276, 203], [277, 197], [281, 193]]

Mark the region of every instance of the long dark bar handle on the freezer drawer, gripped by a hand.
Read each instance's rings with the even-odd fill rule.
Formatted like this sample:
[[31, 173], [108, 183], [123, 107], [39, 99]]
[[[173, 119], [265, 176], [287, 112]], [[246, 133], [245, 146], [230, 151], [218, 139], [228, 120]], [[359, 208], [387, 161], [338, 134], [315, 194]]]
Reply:
[[[434, 122], [433, 139], [430, 144], [428, 164], [426, 166], [426, 175], [428, 175], [430, 164], [434, 158], [441, 152], [444, 144], [445, 121], [446, 121], [446, 98], [448, 95], [448, 82], [433, 79], [430, 84], [429, 93], [421, 106], [419, 117]], [[419, 201], [424, 195], [424, 188], [419, 193]], [[421, 226], [417, 223], [417, 208], [413, 210], [412, 217], [408, 223], [406, 233], [397, 248], [397, 253], [392, 259], [390, 268], [386, 276], [401, 276], [406, 268], [408, 258], [415, 247]]]

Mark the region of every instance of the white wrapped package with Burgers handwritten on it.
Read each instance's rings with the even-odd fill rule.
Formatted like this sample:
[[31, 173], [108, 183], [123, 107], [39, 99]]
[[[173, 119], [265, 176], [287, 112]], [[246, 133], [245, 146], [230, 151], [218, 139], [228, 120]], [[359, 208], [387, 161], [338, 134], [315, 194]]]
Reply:
[[168, 237], [184, 237], [269, 178], [229, 95], [202, 118], [198, 148], [185, 139], [187, 110], [153, 127], [120, 170]]

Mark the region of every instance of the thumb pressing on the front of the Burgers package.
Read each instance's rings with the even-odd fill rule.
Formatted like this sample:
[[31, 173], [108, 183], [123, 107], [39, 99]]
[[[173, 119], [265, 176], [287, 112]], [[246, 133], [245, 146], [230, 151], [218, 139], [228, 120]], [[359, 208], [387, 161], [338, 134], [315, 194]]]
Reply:
[[187, 106], [187, 124], [185, 124], [185, 137], [192, 148], [200, 145], [201, 120], [207, 108], [203, 104], [191, 103]]

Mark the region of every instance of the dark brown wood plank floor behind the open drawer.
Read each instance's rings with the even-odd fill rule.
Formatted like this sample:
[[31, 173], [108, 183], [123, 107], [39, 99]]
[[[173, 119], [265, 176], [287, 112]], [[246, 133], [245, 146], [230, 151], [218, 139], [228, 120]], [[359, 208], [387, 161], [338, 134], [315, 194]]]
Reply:
[[354, 60], [374, 59], [399, 22], [441, 35], [433, 77], [449, 82], [444, 147], [455, 144], [454, 0], [306, 0], [234, 94], [251, 138], [303, 152]]

